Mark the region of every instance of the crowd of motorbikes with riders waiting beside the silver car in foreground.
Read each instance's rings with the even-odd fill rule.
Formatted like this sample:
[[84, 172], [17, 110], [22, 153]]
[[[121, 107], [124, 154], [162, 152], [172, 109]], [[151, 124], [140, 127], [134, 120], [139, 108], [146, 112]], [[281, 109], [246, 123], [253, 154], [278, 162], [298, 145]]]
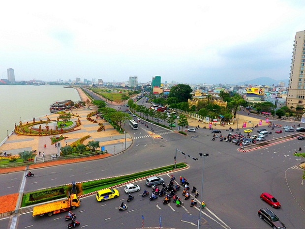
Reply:
[[[171, 201], [173, 201], [173, 203], [175, 203], [177, 207], [180, 207], [184, 205], [182, 198], [179, 197], [177, 194], [180, 189], [183, 189], [182, 195], [184, 197], [184, 200], [188, 200], [190, 198], [191, 196], [190, 192], [193, 194], [194, 198], [199, 196], [199, 192], [195, 186], [193, 186], [192, 190], [190, 191], [189, 183], [183, 176], [180, 177], [180, 184], [178, 184], [177, 182], [175, 184], [175, 176], [171, 175], [170, 182], [168, 185], [163, 183], [162, 187], [160, 188], [156, 185], [152, 185], [152, 195], [150, 196], [150, 193], [145, 189], [144, 192], [142, 193], [142, 197], [150, 196], [149, 197], [150, 200], [155, 200], [158, 197], [164, 196], [164, 199], [162, 201], [163, 204], [168, 204]], [[191, 207], [197, 205], [197, 201], [195, 201], [194, 198], [191, 198], [190, 200]], [[134, 199], [134, 196], [129, 194], [127, 197], [127, 202], [131, 201], [132, 199]], [[204, 208], [205, 206], [206, 204], [203, 201], [201, 204], [201, 208]], [[119, 211], [123, 211], [126, 209], [128, 209], [128, 206], [124, 202], [122, 202], [121, 206], [119, 207]]]

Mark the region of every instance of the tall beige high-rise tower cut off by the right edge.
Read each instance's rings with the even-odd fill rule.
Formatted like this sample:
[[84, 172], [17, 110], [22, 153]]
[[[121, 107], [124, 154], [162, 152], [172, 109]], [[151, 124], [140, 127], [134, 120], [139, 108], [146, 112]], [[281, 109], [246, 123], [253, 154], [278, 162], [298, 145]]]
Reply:
[[305, 105], [305, 31], [296, 33], [293, 46], [286, 105], [296, 110]]

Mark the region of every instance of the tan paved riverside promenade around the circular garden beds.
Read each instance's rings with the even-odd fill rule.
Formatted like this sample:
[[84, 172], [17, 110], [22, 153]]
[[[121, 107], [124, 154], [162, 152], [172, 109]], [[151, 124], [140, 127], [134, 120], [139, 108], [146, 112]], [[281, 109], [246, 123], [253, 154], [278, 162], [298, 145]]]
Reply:
[[[78, 93], [80, 95], [80, 98], [83, 101], [86, 101], [89, 99], [85, 93], [79, 88], [77, 88]], [[125, 148], [128, 148], [132, 144], [132, 139], [128, 133], [126, 133], [126, 147], [125, 147], [125, 134], [120, 134], [118, 131], [116, 131], [108, 122], [105, 122], [103, 119], [97, 119], [97, 123], [92, 123], [87, 120], [87, 114], [91, 113], [92, 111], [96, 111], [96, 106], [91, 106], [90, 109], [86, 109], [86, 107], [79, 108], [79, 109], [73, 109], [72, 114], [75, 114], [77, 116], [72, 116], [71, 121], [77, 121], [79, 118], [82, 125], [78, 127], [77, 131], [72, 131], [68, 133], [64, 133], [63, 136], [66, 137], [66, 139], [60, 141], [60, 147], [72, 144], [76, 140], [90, 135], [90, 138], [86, 139], [84, 141], [84, 144], [88, 144], [89, 141], [99, 141], [100, 147], [104, 147], [104, 151], [106, 151], [108, 156], [112, 154], [117, 154], [119, 152], [122, 152], [125, 150]], [[50, 120], [56, 120], [58, 114], [50, 114], [43, 117], [39, 117], [36, 120], [47, 120], [47, 118], [50, 118]], [[105, 127], [105, 130], [97, 132], [97, 129], [99, 128], [98, 123], [102, 123]], [[57, 134], [56, 136], [59, 137], [61, 134]], [[53, 135], [52, 135], [53, 136]], [[37, 161], [38, 162], [44, 162], [39, 163], [36, 165], [30, 165], [30, 167], [42, 167], [42, 166], [48, 166], [51, 162], [53, 155], [59, 155], [60, 153], [60, 147], [55, 147], [55, 144], [51, 144], [51, 135], [50, 136], [29, 136], [29, 135], [20, 135], [12, 133], [9, 138], [6, 138], [4, 143], [0, 146], [0, 152], [3, 152], [1, 156], [3, 156], [4, 152], [6, 154], [11, 155], [18, 155], [18, 153], [26, 151], [34, 151], [37, 152]], [[44, 147], [46, 146], [46, 147]], [[39, 152], [41, 152], [39, 157]], [[44, 157], [43, 157], [44, 155]], [[99, 156], [101, 157], [101, 156]], [[99, 158], [98, 157], [98, 158]], [[103, 156], [105, 157], [105, 155]], [[95, 158], [94, 158], [95, 159]], [[87, 159], [88, 160], [88, 159]], [[74, 159], [75, 161], [75, 159]], [[80, 159], [81, 161], [81, 159]], [[69, 160], [62, 160], [61, 162], [57, 161], [57, 164], [62, 163], [70, 163]], [[55, 164], [55, 162], [51, 162], [51, 164]], [[17, 171], [17, 170], [23, 170], [25, 167], [22, 168], [2, 168], [0, 169], [0, 173], [10, 172], [10, 171]]]

